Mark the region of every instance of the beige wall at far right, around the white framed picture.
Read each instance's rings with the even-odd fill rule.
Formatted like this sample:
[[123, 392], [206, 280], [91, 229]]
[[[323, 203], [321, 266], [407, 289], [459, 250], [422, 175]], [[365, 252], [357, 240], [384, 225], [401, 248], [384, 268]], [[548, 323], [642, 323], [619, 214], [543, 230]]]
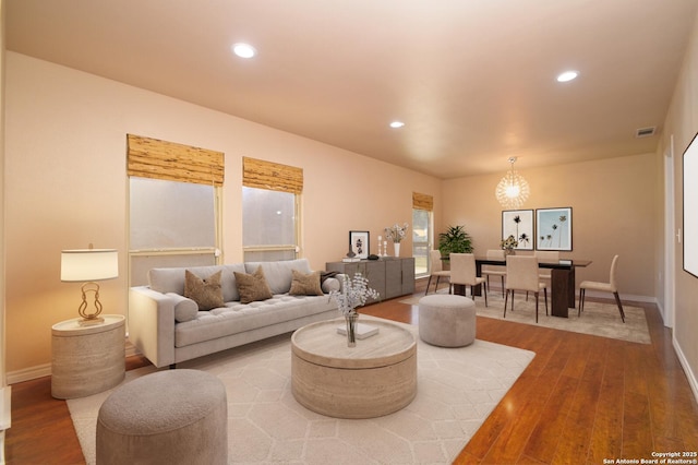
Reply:
[[[698, 131], [698, 16], [689, 43], [684, 67], [679, 75], [672, 104], [664, 122], [660, 154], [666, 151], [674, 140], [673, 166], [675, 177], [674, 231], [683, 230], [683, 208], [696, 208], [696, 200], [690, 205], [683, 205], [682, 154]], [[695, 180], [694, 180], [695, 182]], [[698, 397], [698, 278], [683, 270], [682, 245], [675, 241], [675, 313], [674, 347], [688, 371], [688, 378]]]

